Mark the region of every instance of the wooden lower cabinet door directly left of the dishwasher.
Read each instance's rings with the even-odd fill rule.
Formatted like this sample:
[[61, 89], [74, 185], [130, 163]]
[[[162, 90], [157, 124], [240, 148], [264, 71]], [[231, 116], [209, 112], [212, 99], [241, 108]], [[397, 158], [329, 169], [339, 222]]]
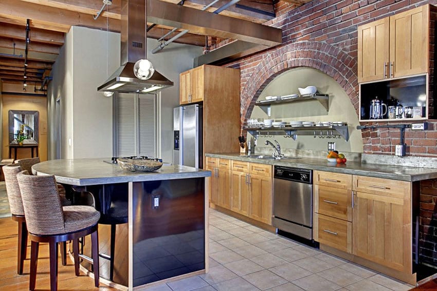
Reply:
[[250, 174], [250, 212], [249, 217], [271, 225], [271, 177]]

